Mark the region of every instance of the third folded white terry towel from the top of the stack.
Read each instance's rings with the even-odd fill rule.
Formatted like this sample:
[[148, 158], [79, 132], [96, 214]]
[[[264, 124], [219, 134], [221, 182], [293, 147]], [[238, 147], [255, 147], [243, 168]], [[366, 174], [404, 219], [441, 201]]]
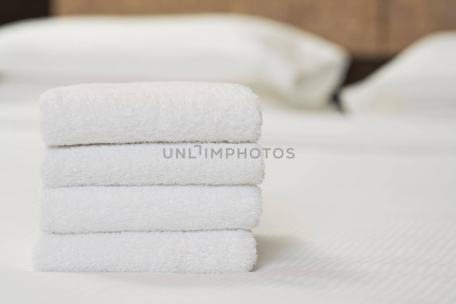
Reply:
[[261, 214], [254, 185], [79, 186], [43, 188], [44, 232], [251, 229]]

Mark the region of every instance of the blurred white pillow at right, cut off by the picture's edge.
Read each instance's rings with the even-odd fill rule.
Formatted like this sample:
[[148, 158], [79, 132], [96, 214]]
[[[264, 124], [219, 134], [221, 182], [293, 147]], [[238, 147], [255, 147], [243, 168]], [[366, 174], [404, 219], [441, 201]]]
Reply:
[[456, 115], [456, 31], [426, 36], [341, 93], [352, 113]]

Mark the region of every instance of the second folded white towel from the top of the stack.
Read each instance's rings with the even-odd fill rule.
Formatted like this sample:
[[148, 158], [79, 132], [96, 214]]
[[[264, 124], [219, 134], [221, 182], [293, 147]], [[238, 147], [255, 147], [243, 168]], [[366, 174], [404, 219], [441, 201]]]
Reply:
[[[172, 157], [165, 158], [164, 154], [169, 156], [171, 149]], [[185, 150], [185, 158], [176, 153], [176, 149]], [[45, 148], [43, 153], [41, 181], [45, 187], [257, 185], [264, 178], [262, 153], [257, 157], [261, 149], [259, 144], [201, 144], [201, 147], [195, 147], [191, 143], [52, 146]], [[245, 155], [238, 157], [238, 151]], [[233, 155], [227, 156], [232, 152]], [[214, 156], [215, 153], [218, 154]]]

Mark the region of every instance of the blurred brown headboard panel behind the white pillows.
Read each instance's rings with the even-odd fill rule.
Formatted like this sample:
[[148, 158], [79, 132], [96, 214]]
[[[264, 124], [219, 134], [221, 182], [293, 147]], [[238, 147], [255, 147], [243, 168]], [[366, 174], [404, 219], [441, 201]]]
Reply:
[[355, 57], [391, 57], [433, 31], [456, 29], [455, 0], [51, 0], [52, 15], [235, 12], [284, 21]]

